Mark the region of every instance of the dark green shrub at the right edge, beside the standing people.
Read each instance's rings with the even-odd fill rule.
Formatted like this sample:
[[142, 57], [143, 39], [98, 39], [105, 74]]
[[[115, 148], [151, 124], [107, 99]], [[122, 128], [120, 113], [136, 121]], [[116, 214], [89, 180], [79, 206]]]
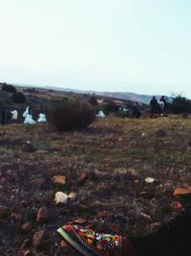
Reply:
[[173, 98], [170, 108], [175, 114], [191, 113], [191, 101], [179, 95]]

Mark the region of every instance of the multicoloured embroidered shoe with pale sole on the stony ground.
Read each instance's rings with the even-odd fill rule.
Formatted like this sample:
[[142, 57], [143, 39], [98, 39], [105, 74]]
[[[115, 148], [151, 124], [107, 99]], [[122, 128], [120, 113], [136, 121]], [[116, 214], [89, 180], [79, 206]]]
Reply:
[[80, 228], [77, 225], [65, 225], [57, 231], [63, 236], [66, 242], [72, 244], [75, 249], [78, 250], [80, 247], [82, 250], [85, 250], [83, 255], [121, 255], [122, 242], [120, 236], [99, 234], [90, 229]]

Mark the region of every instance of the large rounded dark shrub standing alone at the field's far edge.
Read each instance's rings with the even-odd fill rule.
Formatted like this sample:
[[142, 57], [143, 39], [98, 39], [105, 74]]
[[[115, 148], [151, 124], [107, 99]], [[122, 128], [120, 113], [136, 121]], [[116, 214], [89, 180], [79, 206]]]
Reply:
[[51, 115], [53, 127], [60, 131], [86, 128], [94, 120], [94, 108], [79, 100], [61, 102], [54, 107]]

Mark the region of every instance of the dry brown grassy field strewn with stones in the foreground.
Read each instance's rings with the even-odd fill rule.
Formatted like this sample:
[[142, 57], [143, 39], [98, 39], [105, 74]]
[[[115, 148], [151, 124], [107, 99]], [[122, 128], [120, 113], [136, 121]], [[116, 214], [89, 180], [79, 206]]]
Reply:
[[[65, 175], [66, 184], [54, 185], [53, 175]], [[148, 176], [155, 181], [147, 183]], [[61, 252], [56, 234], [69, 222], [103, 232], [148, 233], [179, 211], [172, 202], [189, 202], [173, 196], [184, 183], [191, 183], [191, 119], [109, 117], [66, 133], [47, 124], [1, 127], [0, 205], [7, 208], [0, 207], [0, 254], [76, 255]], [[56, 205], [57, 191], [76, 198]], [[47, 217], [36, 221], [42, 206]], [[44, 236], [35, 246], [39, 230]]]

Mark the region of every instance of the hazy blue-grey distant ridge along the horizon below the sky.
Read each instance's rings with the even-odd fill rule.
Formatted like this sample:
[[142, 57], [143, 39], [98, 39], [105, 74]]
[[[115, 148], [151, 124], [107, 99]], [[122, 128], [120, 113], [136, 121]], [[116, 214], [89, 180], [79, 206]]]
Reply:
[[[25, 85], [25, 84], [15, 84], [24, 87], [33, 87], [33, 88], [40, 88], [40, 89], [48, 89], [54, 91], [63, 91], [63, 92], [74, 92], [80, 94], [96, 94], [97, 96], [109, 97], [114, 99], [120, 99], [125, 101], [131, 102], [138, 102], [149, 105], [150, 100], [152, 99], [153, 95], [144, 95], [144, 94], [137, 94], [131, 92], [98, 92], [98, 91], [88, 91], [88, 90], [75, 90], [71, 88], [61, 88], [56, 86], [38, 86], [38, 85]], [[161, 97], [160, 95], [155, 95], [157, 99]]]

